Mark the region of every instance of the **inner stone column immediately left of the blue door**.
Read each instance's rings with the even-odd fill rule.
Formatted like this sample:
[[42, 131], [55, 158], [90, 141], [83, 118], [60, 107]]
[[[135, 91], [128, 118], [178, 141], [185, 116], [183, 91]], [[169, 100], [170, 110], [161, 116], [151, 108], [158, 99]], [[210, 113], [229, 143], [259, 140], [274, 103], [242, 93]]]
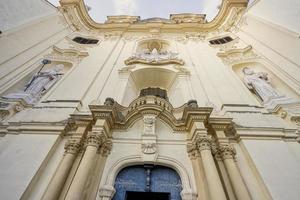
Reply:
[[81, 200], [88, 175], [94, 166], [98, 148], [104, 141], [104, 130], [89, 132], [87, 135], [86, 149], [81, 159], [75, 177], [67, 193], [66, 200]]

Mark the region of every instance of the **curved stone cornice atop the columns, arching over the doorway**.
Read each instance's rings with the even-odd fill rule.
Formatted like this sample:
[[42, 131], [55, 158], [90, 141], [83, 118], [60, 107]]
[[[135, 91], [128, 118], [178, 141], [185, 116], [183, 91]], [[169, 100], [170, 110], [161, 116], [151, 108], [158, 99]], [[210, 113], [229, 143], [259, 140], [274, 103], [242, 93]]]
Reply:
[[[134, 100], [128, 107], [123, 107], [117, 102], [110, 105], [91, 104], [89, 108], [94, 119], [105, 119], [110, 129], [126, 130], [131, 127], [143, 115], [154, 114], [167, 123], [174, 131], [189, 131], [196, 121], [206, 122], [212, 111], [209, 107], [190, 107], [184, 104], [179, 108], [173, 106], [166, 100], [145, 96]], [[176, 118], [174, 113], [181, 113]]]

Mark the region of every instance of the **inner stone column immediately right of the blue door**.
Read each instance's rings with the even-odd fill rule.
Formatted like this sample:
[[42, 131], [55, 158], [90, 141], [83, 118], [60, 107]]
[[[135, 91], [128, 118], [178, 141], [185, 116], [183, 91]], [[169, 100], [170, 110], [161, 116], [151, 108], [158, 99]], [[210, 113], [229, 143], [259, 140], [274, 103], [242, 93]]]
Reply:
[[226, 195], [211, 153], [211, 138], [207, 135], [199, 134], [196, 140], [207, 179], [210, 199], [226, 200]]

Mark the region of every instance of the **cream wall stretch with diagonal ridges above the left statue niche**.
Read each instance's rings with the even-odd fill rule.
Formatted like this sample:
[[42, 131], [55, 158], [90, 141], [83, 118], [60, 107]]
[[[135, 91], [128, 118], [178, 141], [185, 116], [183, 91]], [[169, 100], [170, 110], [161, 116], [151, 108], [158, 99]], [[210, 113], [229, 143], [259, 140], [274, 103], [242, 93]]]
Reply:
[[39, 69], [43, 56], [50, 53], [70, 31], [62, 16], [55, 15], [31, 21], [18, 30], [0, 37], [0, 93], [3, 94], [24, 77]]

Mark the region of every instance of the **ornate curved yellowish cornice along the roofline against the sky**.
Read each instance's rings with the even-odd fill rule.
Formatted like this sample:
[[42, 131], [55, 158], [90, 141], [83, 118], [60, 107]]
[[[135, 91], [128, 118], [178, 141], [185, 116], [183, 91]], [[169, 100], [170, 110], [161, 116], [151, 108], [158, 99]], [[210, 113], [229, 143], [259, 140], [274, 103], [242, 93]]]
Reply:
[[[108, 23], [96, 23], [89, 16], [83, 0], [60, 0], [60, 10], [67, 22], [75, 29], [143, 32], [159, 28], [167, 32], [178, 32], [179, 30], [208, 32], [217, 30], [226, 20], [230, 20], [230, 15], [234, 15], [234, 12], [231, 12], [233, 9], [245, 9], [247, 2], [247, 0], [223, 0], [219, 13], [208, 23], [203, 19], [203, 15], [188, 16], [184, 14], [171, 15], [170, 20], [153, 21], [139, 20], [139, 17], [136, 16], [120, 16], [119, 19], [115, 16], [110, 17], [107, 21]], [[174, 17], [176, 20], [173, 19]], [[190, 20], [186, 20], [186, 17]]]

